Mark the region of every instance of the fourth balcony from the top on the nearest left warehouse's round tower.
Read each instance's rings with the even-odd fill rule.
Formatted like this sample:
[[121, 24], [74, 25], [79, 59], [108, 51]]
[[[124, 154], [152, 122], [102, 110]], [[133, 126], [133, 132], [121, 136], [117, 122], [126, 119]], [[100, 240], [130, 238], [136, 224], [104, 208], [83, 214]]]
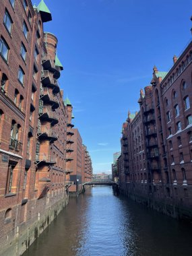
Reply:
[[49, 110], [47, 106], [39, 106], [38, 108], [38, 117], [41, 121], [49, 121], [52, 125], [59, 123], [59, 120], [56, 117], [56, 113]]

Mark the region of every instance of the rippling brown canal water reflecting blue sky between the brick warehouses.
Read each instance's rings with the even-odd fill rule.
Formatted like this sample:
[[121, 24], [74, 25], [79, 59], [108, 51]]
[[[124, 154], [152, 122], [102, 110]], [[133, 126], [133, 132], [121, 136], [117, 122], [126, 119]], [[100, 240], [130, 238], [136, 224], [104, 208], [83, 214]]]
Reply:
[[191, 256], [192, 226], [98, 186], [71, 199], [24, 255]]

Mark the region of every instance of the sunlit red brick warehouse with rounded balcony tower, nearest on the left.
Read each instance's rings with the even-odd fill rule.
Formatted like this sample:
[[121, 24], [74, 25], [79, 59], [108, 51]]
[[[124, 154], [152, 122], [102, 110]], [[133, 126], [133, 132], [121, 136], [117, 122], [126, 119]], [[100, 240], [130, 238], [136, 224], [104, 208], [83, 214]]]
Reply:
[[72, 106], [43, 0], [0, 5], [0, 254], [20, 255], [69, 200]]

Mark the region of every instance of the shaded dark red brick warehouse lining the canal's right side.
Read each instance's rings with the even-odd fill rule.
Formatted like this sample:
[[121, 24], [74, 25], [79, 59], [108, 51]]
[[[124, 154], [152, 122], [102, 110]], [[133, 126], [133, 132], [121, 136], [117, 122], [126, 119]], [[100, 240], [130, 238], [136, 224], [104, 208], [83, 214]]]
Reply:
[[191, 218], [192, 42], [173, 61], [168, 72], [154, 67], [139, 113], [123, 124], [120, 189], [159, 212]]

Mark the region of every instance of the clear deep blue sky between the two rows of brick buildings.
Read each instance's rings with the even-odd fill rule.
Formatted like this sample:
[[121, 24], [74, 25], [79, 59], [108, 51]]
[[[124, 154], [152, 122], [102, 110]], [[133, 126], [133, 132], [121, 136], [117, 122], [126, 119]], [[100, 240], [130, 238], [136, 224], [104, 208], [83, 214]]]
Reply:
[[[127, 111], [154, 65], [168, 71], [191, 38], [191, 0], [44, 0], [64, 66], [59, 82], [73, 104], [74, 124], [94, 172], [111, 169]], [[33, 1], [38, 4], [38, 1]]]

